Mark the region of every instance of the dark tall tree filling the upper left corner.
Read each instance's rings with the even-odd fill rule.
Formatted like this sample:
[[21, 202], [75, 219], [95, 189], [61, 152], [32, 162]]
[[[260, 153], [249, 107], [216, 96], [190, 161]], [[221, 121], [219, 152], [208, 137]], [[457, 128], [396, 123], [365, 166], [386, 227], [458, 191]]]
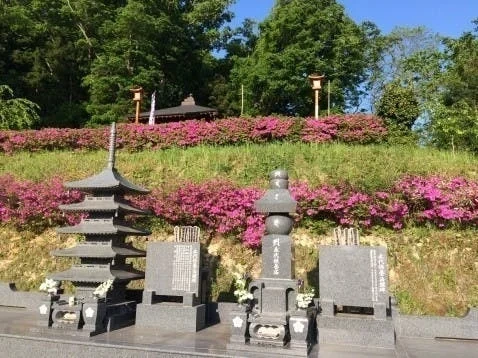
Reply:
[[121, 1], [11, 0], [0, 3], [0, 83], [41, 107], [39, 125], [86, 120], [89, 73], [98, 29]]

